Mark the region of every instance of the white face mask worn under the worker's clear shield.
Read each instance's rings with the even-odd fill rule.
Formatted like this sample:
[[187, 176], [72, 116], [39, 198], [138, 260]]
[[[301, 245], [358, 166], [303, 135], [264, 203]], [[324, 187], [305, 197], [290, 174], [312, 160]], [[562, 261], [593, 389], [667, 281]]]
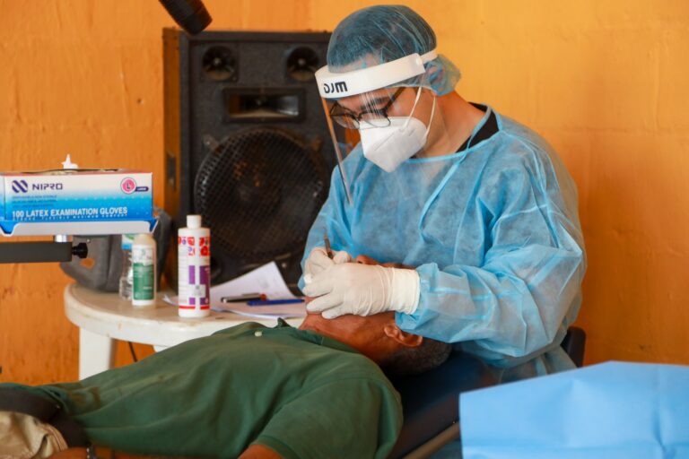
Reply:
[[[423, 121], [413, 117], [422, 89], [416, 94], [414, 107], [409, 117], [388, 117], [390, 125], [360, 129], [363, 156], [386, 172], [392, 172], [400, 164], [423, 149], [431, 129]], [[431, 119], [435, 112], [435, 98], [431, 109]]]

